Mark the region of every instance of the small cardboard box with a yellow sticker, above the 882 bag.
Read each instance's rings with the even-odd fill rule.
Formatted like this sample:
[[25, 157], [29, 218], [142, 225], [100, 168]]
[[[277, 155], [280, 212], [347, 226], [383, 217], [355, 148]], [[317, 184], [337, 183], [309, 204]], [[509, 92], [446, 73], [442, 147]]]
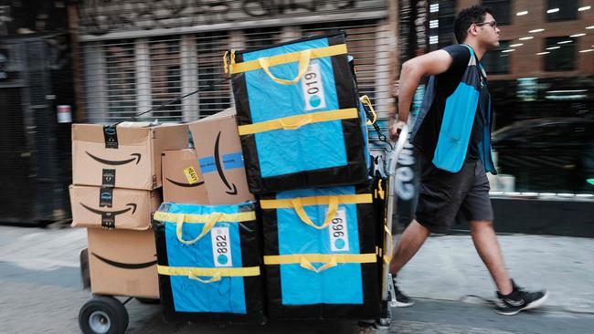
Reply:
[[163, 200], [208, 204], [207, 188], [195, 150], [163, 152]]

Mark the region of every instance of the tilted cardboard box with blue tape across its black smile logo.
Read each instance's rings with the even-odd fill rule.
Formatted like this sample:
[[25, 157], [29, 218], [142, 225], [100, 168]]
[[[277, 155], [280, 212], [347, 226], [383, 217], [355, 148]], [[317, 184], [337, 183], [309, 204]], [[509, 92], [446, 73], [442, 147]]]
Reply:
[[209, 204], [238, 204], [249, 193], [235, 109], [189, 123]]

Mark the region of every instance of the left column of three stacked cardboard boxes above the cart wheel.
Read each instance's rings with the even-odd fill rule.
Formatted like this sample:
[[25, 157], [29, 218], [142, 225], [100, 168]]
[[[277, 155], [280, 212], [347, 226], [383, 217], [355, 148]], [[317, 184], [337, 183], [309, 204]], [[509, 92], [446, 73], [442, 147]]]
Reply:
[[188, 145], [187, 125], [72, 126], [72, 226], [87, 227], [91, 291], [158, 298], [151, 214], [161, 154]]

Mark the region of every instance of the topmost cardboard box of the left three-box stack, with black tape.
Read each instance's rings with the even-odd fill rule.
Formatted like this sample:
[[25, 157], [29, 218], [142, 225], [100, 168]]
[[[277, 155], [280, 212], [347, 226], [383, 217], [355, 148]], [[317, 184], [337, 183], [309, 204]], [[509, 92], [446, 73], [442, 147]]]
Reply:
[[[114, 130], [115, 129], [115, 130]], [[186, 124], [72, 125], [72, 181], [152, 190], [162, 185], [161, 152], [186, 149]]]

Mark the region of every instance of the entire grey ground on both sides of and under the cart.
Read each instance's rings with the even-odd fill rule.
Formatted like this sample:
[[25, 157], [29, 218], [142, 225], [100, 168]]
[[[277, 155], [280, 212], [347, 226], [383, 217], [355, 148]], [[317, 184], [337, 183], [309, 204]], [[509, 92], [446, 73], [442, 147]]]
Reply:
[[[470, 235], [431, 236], [398, 276], [416, 299], [393, 308], [389, 333], [592, 333], [594, 239], [499, 235], [506, 265], [523, 287], [546, 287], [544, 308], [505, 317], [493, 312], [493, 283]], [[0, 225], [0, 333], [80, 333], [78, 313], [90, 299], [80, 283], [84, 229]], [[133, 299], [127, 333], [359, 333], [355, 321], [251, 324], [164, 323], [160, 306]], [[374, 332], [367, 330], [366, 332]]]

